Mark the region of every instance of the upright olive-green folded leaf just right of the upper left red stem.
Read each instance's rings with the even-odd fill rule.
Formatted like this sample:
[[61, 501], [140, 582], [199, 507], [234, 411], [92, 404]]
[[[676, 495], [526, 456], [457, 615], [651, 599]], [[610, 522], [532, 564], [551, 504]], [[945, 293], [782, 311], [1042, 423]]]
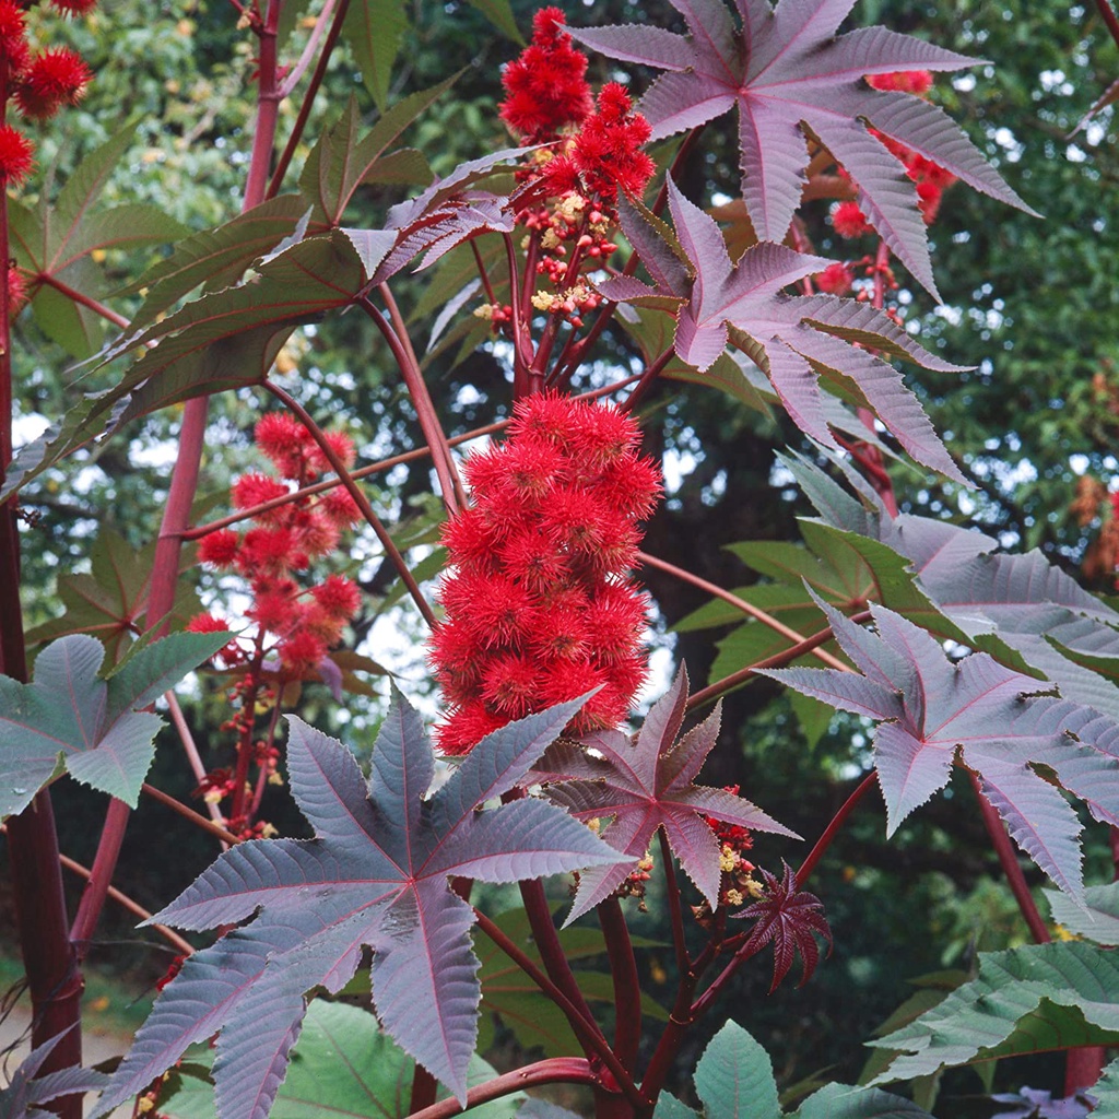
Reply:
[[[351, 12], [355, 7], [360, 4], [351, 6]], [[351, 96], [346, 112], [311, 149], [299, 177], [299, 189], [313, 206], [314, 218], [329, 226], [340, 225], [354, 191], [363, 182], [414, 182], [416, 175], [421, 180], [426, 175], [430, 181], [430, 169], [419, 152], [405, 149], [387, 157], [385, 152], [457, 79], [458, 75], [452, 75], [398, 101], [360, 140], [361, 117], [357, 98]]]

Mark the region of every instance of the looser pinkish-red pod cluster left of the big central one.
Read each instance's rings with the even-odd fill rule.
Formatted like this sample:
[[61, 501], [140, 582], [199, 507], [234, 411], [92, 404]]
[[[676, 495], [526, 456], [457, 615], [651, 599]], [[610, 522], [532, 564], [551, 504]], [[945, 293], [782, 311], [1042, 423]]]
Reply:
[[[305, 485], [328, 469], [310, 432], [284, 412], [263, 416], [255, 436], [280, 477], [251, 473], [238, 479], [233, 487], [237, 509], [284, 498], [291, 492], [289, 481]], [[342, 460], [352, 462], [350, 439], [337, 432], [329, 438]], [[329, 575], [318, 585], [303, 587], [292, 574], [305, 570], [312, 558], [333, 552], [342, 530], [360, 515], [354, 499], [339, 487], [318, 500], [300, 498], [262, 509], [251, 519], [253, 527], [247, 532], [219, 529], [204, 536], [198, 556], [216, 567], [234, 568], [250, 581], [253, 605], [247, 613], [260, 628], [258, 647], [279, 656], [283, 675], [300, 678], [341, 640], [346, 623], [360, 605], [360, 592], [342, 575]], [[225, 622], [200, 614], [189, 628], [209, 632], [225, 628]], [[264, 645], [265, 633], [275, 637], [273, 646]], [[223, 659], [237, 662], [245, 656], [234, 645]]]

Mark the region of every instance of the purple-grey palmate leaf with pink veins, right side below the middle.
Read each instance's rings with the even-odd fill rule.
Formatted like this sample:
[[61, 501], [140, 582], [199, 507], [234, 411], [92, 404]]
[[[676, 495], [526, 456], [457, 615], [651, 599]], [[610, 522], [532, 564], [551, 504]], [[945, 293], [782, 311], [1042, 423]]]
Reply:
[[982, 652], [953, 662], [928, 632], [872, 606], [877, 634], [817, 600], [859, 673], [791, 668], [763, 675], [876, 720], [875, 767], [888, 833], [944, 787], [959, 754], [1010, 835], [1062, 890], [1081, 897], [1080, 822], [1035, 767], [1119, 820], [1119, 727]]

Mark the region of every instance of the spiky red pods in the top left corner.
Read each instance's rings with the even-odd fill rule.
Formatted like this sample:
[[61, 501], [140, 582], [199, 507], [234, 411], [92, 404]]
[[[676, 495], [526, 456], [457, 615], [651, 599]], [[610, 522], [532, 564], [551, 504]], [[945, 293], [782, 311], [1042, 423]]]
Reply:
[[[64, 16], [90, 11], [96, 0], [54, 0]], [[0, 0], [0, 78], [16, 107], [30, 121], [45, 121], [63, 105], [76, 105], [92, 74], [69, 47], [31, 53], [27, 16], [18, 0]], [[10, 124], [0, 126], [0, 187], [19, 184], [31, 169], [31, 141]]]

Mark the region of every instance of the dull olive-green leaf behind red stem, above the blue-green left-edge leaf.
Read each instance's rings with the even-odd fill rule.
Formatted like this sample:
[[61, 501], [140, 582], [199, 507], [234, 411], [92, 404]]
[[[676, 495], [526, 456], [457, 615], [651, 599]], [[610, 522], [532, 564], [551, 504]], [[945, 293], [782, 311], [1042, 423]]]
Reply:
[[[27, 645], [41, 645], [67, 633], [90, 633], [105, 646], [110, 662], [117, 664], [145, 624], [154, 555], [154, 540], [137, 552], [122, 536], [103, 528], [90, 552], [90, 574], [58, 579], [66, 612], [28, 632]], [[194, 563], [192, 556], [188, 549], [185, 567]], [[181, 629], [199, 609], [194, 589], [180, 583], [171, 609], [172, 628]]]

